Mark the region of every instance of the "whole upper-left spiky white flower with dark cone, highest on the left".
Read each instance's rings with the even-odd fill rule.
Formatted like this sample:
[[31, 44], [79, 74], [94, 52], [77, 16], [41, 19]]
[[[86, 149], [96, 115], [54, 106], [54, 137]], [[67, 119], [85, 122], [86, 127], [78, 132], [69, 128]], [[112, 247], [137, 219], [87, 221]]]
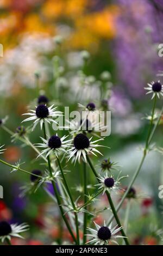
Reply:
[[43, 123], [45, 123], [45, 121], [47, 123], [55, 123], [57, 124], [57, 121], [53, 120], [53, 118], [59, 117], [60, 115], [62, 115], [62, 113], [60, 111], [56, 111], [57, 107], [54, 107], [54, 105], [52, 105], [51, 107], [47, 107], [44, 104], [41, 104], [39, 106], [36, 107], [36, 110], [29, 110], [31, 113], [26, 113], [23, 115], [30, 115], [29, 118], [23, 120], [23, 122], [26, 121], [34, 121], [34, 125], [33, 125], [33, 129], [35, 129], [36, 125], [40, 123], [40, 127], [42, 130], [42, 125]]

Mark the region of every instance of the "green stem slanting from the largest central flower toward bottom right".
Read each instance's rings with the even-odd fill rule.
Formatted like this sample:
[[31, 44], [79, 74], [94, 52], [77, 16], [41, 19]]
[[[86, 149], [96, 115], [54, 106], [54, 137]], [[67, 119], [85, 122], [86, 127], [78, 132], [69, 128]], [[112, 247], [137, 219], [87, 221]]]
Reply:
[[[95, 174], [96, 179], [97, 179], [98, 182], [99, 182], [98, 174], [97, 174], [95, 168], [93, 167], [93, 164], [92, 164], [92, 162], [91, 162], [91, 160], [90, 160], [90, 158], [89, 158], [88, 155], [86, 155], [86, 159], [87, 159], [87, 161], [88, 161], [88, 163], [89, 163], [89, 165], [90, 165], [90, 167], [91, 167], [93, 173]], [[114, 215], [114, 217], [115, 217], [115, 220], [116, 220], [116, 222], [117, 222], [117, 224], [118, 224], [118, 227], [122, 227], [121, 222], [120, 222], [120, 220], [119, 220], [119, 218], [118, 218], [118, 215], [117, 215], [117, 212], [116, 212], [114, 203], [112, 202], [110, 193], [109, 193], [108, 191], [106, 191], [105, 193], [106, 193], [106, 196], [108, 197], [108, 201], [109, 201], [109, 204], [110, 204], [112, 213], [113, 213], [113, 215]], [[129, 245], [128, 239], [127, 239], [127, 237], [126, 237], [126, 234], [124, 233], [123, 228], [121, 229], [121, 234], [122, 234], [122, 236], [124, 236], [123, 239], [124, 239], [124, 241], [126, 242], [126, 245]]]

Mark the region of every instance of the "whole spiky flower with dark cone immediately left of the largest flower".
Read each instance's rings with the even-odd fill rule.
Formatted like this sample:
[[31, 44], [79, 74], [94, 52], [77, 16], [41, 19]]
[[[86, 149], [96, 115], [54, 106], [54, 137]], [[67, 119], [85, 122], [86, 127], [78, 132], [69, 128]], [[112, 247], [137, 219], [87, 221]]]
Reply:
[[[43, 143], [37, 143], [37, 147], [38, 148], [45, 148], [44, 150], [41, 151], [41, 153], [39, 154], [39, 156], [46, 154], [46, 157], [49, 156], [49, 154], [51, 154], [52, 152], [55, 153], [55, 155], [58, 155], [58, 153], [60, 153], [61, 151], [63, 151], [64, 153], [66, 153], [66, 148], [68, 147], [72, 147], [71, 144], [67, 144], [68, 142], [71, 141], [65, 141], [65, 139], [68, 136], [63, 136], [62, 138], [58, 137], [58, 135], [53, 135], [48, 139], [44, 139], [42, 137], [40, 137], [43, 141]], [[39, 157], [37, 156], [37, 157]]]

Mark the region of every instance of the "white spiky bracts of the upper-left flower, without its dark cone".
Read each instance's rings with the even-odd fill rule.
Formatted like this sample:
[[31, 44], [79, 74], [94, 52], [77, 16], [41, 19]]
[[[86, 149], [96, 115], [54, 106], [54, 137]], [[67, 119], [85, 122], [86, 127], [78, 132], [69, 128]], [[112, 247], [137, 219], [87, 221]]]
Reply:
[[[34, 121], [32, 131], [35, 129], [36, 125], [39, 124], [39, 123], [40, 123], [41, 130], [42, 130], [42, 125], [45, 122], [47, 122], [48, 124], [50, 124], [51, 122], [55, 123], [55, 124], [58, 124], [57, 121], [53, 120], [53, 118], [57, 118], [59, 116], [62, 116], [62, 112], [61, 111], [56, 111], [57, 107], [53, 108], [53, 106], [54, 105], [52, 105], [51, 107], [47, 107], [48, 114], [47, 114], [46, 117], [42, 117], [42, 118], [38, 117], [36, 115], [36, 110], [34, 111], [32, 109], [29, 109], [30, 112], [29, 113], [25, 113], [23, 115], [29, 115], [30, 117], [28, 117], [25, 120], [23, 120], [22, 123], [26, 122], [26, 121]], [[39, 106], [35, 106], [35, 107], [37, 109], [38, 107], [40, 107], [40, 105]], [[45, 105], [45, 107], [46, 107], [46, 105]]]

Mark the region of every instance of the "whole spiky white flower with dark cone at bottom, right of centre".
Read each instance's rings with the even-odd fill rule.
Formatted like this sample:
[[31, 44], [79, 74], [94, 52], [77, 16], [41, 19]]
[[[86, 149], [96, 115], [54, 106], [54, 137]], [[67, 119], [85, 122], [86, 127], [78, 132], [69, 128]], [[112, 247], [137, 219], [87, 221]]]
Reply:
[[91, 232], [91, 234], [87, 234], [87, 236], [91, 236], [92, 239], [87, 243], [93, 243], [94, 245], [109, 245], [109, 243], [116, 243], [118, 245], [117, 241], [115, 241], [116, 238], [122, 238], [124, 236], [117, 235], [117, 233], [122, 229], [122, 227], [117, 228], [117, 225], [114, 228], [112, 227], [112, 223], [109, 225], [109, 227], [106, 227], [105, 221], [104, 225], [101, 227], [96, 222], [95, 226], [96, 229], [87, 228]]

